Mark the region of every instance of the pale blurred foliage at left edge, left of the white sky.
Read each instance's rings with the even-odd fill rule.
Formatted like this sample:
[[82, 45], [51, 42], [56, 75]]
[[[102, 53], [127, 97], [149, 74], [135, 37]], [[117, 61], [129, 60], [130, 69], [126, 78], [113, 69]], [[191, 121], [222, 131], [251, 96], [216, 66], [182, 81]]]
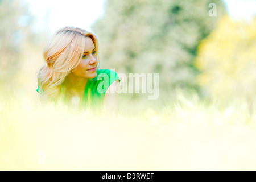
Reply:
[[14, 84], [22, 68], [24, 45], [33, 38], [32, 16], [22, 1], [0, 1], [0, 84]]

